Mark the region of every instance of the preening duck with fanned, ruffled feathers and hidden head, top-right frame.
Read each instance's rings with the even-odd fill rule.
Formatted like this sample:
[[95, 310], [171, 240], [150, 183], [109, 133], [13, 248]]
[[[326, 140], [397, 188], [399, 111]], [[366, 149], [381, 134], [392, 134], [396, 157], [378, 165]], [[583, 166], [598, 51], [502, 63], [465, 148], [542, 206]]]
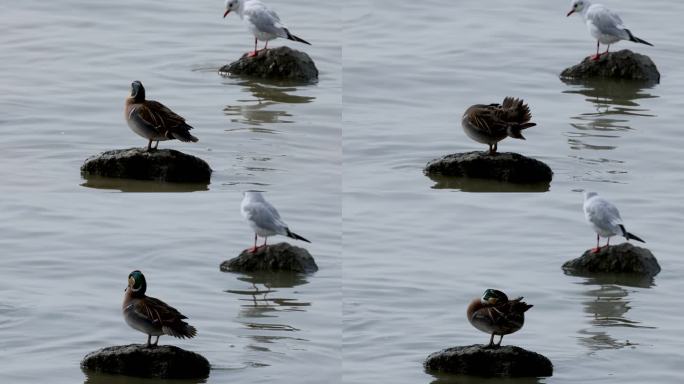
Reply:
[[466, 109], [461, 125], [466, 135], [478, 143], [489, 145], [496, 153], [497, 143], [506, 137], [525, 140], [521, 131], [534, 127], [530, 108], [522, 99], [506, 97], [503, 103], [475, 104]]

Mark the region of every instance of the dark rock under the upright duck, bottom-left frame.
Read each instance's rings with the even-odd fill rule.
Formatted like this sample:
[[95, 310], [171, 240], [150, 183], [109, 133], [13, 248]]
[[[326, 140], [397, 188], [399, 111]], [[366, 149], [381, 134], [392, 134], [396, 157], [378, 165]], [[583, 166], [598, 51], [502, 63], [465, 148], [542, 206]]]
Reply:
[[81, 367], [128, 376], [195, 379], [209, 376], [211, 366], [203, 356], [172, 345], [130, 344], [91, 352], [83, 358]]

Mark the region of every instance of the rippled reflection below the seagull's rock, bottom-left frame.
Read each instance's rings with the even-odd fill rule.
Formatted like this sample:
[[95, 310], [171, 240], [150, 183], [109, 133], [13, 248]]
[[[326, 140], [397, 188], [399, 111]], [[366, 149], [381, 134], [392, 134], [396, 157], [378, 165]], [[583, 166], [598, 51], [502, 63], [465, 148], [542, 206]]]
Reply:
[[244, 274], [238, 277], [238, 280], [247, 283], [246, 288], [226, 292], [242, 296], [240, 301], [243, 304], [239, 317], [244, 319], [242, 323], [247, 329], [256, 332], [248, 335], [252, 343], [247, 346], [247, 349], [272, 352], [269, 345], [282, 340], [307, 341], [293, 336], [299, 331], [298, 328], [283, 324], [282, 320], [279, 320], [282, 318], [282, 312], [302, 312], [311, 306], [311, 303], [282, 296], [284, 292], [287, 292], [284, 288], [307, 284], [305, 275], [288, 272], [257, 272]]

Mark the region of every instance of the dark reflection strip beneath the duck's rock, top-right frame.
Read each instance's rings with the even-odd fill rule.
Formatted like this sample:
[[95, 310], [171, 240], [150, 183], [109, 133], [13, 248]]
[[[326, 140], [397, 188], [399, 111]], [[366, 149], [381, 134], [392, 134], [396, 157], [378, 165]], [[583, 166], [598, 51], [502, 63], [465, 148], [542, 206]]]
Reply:
[[546, 192], [550, 183], [517, 184], [488, 179], [428, 175], [435, 182], [432, 189], [457, 189], [463, 192]]

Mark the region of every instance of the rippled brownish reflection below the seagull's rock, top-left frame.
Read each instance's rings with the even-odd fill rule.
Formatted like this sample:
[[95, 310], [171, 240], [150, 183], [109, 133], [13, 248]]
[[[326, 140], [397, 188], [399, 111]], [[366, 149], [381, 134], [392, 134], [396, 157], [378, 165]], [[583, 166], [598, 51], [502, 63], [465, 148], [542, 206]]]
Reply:
[[282, 83], [266, 83], [264, 80], [242, 80], [237, 83], [243, 86], [255, 98], [237, 100], [238, 105], [227, 105], [223, 111], [227, 116], [237, 116], [232, 121], [250, 126], [250, 130], [260, 133], [277, 133], [267, 128], [254, 128], [262, 124], [292, 123], [292, 115], [287, 111], [273, 110], [273, 106], [279, 104], [304, 104], [310, 103], [315, 98], [310, 96], [294, 95], [298, 91], [296, 86]]

